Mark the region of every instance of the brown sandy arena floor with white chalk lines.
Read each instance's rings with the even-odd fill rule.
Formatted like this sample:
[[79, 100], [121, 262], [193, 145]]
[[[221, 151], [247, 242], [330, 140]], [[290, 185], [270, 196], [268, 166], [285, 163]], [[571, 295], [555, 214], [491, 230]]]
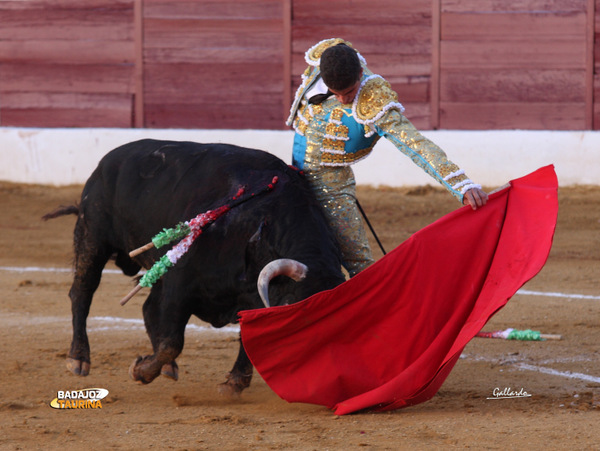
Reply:
[[[178, 358], [178, 382], [129, 379], [133, 359], [150, 353], [143, 295], [119, 300], [131, 279], [114, 271], [96, 293], [88, 331], [92, 370], [65, 367], [71, 339], [72, 230], [75, 217], [42, 222], [80, 186], [0, 182], [1, 449], [598, 449], [600, 446], [600, 188], [564, 188], [553, 250], [542, 272], [486, 326], [541, 330], [560, 341], [475, 338], [439, 393], [391, 413], [337, 417], [289, 404], [255, 373], [237, 400], [217, 384], [237, 354], [234, 328], [193, 320]], [[434, 188], [371, 189], [359, 198], [391, 250], [457, 208]], [[373, 242], [373, 249], [377, 245]], [[378, 254], [381, 255], [380, 253]], [[538, 294], [532, 294], [538, 293]], [[55, 410], [59, 390], [105, 388], [97, 410]], [[530, 397], [488, 399], [494, 390]]]

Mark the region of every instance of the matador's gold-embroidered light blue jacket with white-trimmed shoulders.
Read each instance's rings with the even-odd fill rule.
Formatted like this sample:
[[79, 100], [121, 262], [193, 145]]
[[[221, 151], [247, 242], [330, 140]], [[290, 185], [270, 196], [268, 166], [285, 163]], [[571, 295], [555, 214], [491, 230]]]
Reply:
[[328, 39], [311, 47], [305, 55], [308, 68], [290, 110], [288, 125], [293, 125], [294, 164], [307, 171], [321, 166], [347, 166], [369, 155], [384, 137], [426, 171], [458, 200], [474, 187], [463, 170], [448, 160], [445, 152], [425, 138], [404, 116], [398, 96], [381, 76], [373, 74], [359, 54], [363, 77], [351, 105], [330, 97], [320, 105], [311, 105], [307, 92], [320, 79], [319, 63], [323, 51], [342, 39]]

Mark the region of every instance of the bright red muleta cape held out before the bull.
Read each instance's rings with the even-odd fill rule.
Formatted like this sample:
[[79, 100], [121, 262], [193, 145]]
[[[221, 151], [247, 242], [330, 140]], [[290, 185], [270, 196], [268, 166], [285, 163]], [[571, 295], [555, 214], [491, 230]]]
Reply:
[[333, 290], [240, 313], [250, 360], [289, 402], [337, 415], [431, 399], [463, 348], [548, 258], [553, 166], [415, 233]]

